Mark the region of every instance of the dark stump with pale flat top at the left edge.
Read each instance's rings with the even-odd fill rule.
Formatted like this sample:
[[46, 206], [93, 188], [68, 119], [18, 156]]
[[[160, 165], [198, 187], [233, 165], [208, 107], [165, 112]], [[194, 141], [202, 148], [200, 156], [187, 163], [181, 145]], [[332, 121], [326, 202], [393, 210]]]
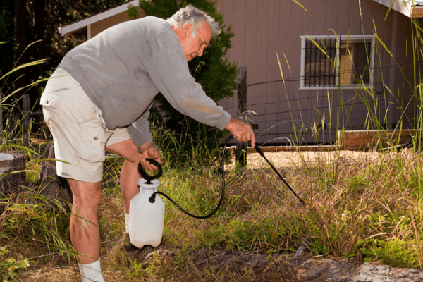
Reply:
[[11, 194], [25, 184], [26, 159], [25, 155], [16, 151], [0, 153], [0, 193]]

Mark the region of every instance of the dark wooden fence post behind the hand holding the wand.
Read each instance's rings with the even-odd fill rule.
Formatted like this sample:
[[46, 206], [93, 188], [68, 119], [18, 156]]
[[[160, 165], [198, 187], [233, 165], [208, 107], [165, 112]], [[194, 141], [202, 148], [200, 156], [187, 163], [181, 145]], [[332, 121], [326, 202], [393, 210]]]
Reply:
[[[238, 68], [238, 112], [237, 116], [247, 111], [247, 67]], [[239, 161], [240, 167], [247, 164], [247, 142], [236, 141], [235, 159]]]

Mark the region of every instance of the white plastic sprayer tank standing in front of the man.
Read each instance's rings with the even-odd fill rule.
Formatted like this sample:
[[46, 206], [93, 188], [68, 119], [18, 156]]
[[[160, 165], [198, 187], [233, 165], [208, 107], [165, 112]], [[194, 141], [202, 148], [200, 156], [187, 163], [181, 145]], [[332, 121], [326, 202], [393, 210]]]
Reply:
[[149, 202], [149, 197], [157, 191], [160, 181], [154, 179], [151, 182], [147, 184], [144, 178], [138, 179], [140, 192], [129, 205], [129, 240], [135, 247], [157, 247], [163, 236], [164, 202], [157, 194], [154, 203]]

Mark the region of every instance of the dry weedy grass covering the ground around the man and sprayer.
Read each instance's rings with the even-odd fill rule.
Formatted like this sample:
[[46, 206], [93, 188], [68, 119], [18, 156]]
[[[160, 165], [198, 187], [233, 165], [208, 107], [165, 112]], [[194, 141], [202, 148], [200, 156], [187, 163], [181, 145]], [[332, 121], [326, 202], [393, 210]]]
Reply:
[[[192, 251], [292, 254], [306, 235], [309, 255], [421, 267], [419, 181], [423, 166], [418, 152], [265, 155], [305, 200], [305, 207], [257, 154], [250, 154], [247, 169], [234, 168], [228, 173], [225, 200], [212, 219], [192, 219], [165, 200], [165, 233], [159, 248], [163, 252], [143, 262], [118, 247], [124, 231], [117, 173], [121, 163], [110, 164], [99, 219], [106, 280], [226, 281], [222, 269], [212, 271], [193, 263]], [[207, 214], [218, 202], [221, 189], [221, 179], [212, 171], [166, 170], [159, 190], [190, 212]], [[0, 242], [9, 250], [7, 257], [32, 261], [17, 277], [22, 281], [78, 281], [66, 227], [68, 214], [33, 198], [30, 194], [10, 197], [3, 204], [8, 209], [0, 216]], [[63, 227], [54, 230], [54, 218]], [[395, 255], [398, 250], [403, 250], [402, 257]], [[250, 278], [259, 277], [251, 271]], [[247, 277], [247, 272], [238, 274]]]

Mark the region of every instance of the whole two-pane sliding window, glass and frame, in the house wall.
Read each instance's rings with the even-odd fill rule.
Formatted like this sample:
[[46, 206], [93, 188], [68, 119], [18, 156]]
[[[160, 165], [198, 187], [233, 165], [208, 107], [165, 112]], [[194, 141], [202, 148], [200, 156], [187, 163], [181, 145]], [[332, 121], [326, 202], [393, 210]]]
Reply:
[[374, 35], [302, 36], [300, 89], [371, 87], [373, 47]]

